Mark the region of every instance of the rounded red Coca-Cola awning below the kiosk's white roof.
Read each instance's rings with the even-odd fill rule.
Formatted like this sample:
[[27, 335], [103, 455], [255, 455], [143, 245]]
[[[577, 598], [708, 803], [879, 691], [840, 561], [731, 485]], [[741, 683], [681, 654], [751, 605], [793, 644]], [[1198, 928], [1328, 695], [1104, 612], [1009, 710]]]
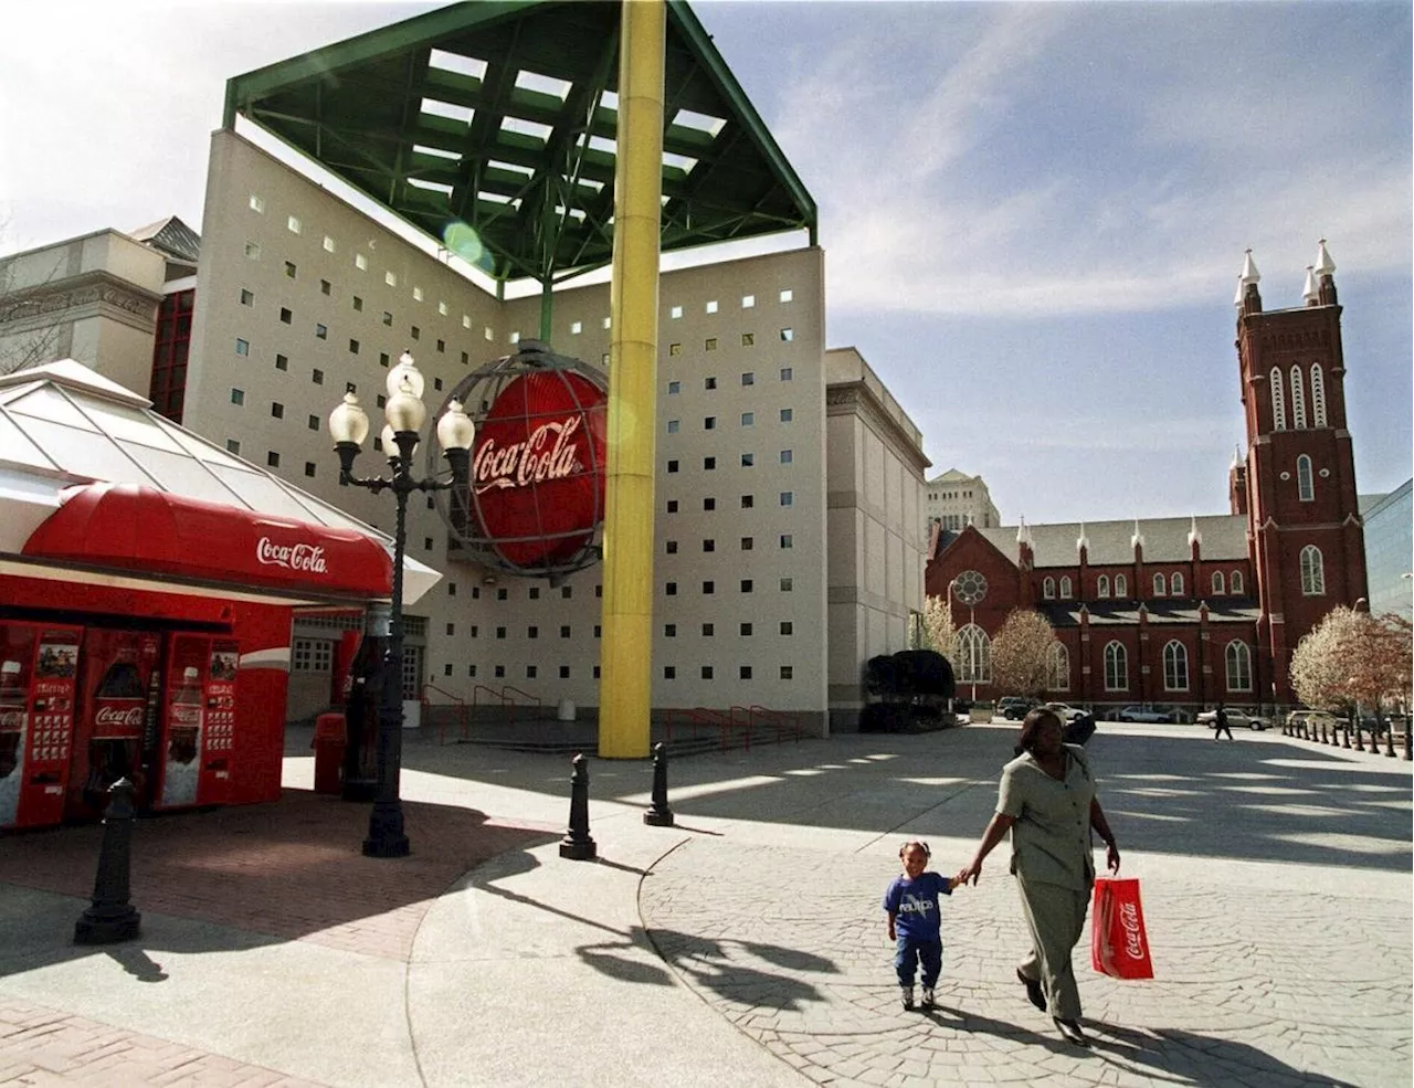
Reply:
[[24, 544], [23, 555], [291, 598], [386, 598], [393, 564], [352, 528], [273, 517], [132, 483], [83, 483]]

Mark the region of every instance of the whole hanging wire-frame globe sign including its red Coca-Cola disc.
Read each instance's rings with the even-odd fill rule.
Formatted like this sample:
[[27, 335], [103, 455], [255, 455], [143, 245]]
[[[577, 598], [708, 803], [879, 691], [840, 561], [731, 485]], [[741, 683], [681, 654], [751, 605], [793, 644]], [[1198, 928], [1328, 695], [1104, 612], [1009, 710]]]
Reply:
[[583, 363], [527, 342], [458, 391], [464, 403], [486, 406], [465, 514], [450, 512], [464, 543], [526, 574], [587, 565], [604, 520], [602, 383]]

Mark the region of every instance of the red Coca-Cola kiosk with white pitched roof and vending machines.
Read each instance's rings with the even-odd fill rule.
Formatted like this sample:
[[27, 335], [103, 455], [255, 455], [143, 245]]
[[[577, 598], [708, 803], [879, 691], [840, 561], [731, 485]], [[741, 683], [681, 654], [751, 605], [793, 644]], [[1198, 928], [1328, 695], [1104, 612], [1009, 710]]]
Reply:
[[390, 588], [380, 534], [146, 398], [0, 379], [0, 828], [95, 818], [120, 776], [146, 808], [277, 798], [294, 612]]

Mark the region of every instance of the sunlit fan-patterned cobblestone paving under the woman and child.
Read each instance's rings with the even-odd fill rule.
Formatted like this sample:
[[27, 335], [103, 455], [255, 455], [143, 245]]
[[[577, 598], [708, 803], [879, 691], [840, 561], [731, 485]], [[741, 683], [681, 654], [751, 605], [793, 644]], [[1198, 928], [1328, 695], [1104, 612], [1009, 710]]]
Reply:
[[1291, 866], [1274, 893], [1222, 861], [1200, 882], [1165, 880], [1154, 861], [1143, 896], [1157, 978], [1094, 974], [1089, 930], [1076, 950], [1086, 1051], [1015, 982], [1028, 940], [1005, 853], [945, 901], [932, 1013], [898, 1003], [880, 906], [892, 859], [690, 839], [643, 882], [641, 911], [689, 986], [833, 1088], [1414, 1084], [1407, 896], [1363, 896], [1359, 870], [1316, 892]]

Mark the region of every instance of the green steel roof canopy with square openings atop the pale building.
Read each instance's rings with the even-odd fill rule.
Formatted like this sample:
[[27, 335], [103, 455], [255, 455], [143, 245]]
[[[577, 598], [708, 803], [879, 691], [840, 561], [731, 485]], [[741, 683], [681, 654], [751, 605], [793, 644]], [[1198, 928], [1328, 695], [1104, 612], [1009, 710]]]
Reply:
[[[612, 257], [619, 3], [452, 4], [226, 83], [298, 148], [498, 281]], [[809, 230], [816, 206], [711, 38], [667, 3], [663, 250]], [[468, 229], [469, 227], [469, 229]]]

